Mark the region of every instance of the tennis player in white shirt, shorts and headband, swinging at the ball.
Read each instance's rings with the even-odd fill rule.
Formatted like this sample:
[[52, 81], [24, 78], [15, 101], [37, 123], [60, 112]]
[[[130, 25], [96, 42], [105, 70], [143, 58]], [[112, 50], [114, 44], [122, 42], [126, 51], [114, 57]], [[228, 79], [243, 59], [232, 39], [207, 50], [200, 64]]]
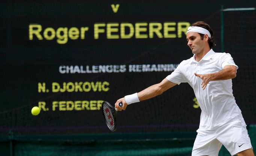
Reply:
[[[229, 53], [216, 53], [212, 28], [205, 22], [193, 23], [187, 30], [187, 45], [194, 54], [182, 61], [162, 82], [116, 101], [117, 110], [153, 98], [167, 89], [187, 82], [202, 110], [192, 156], [218, 156], [222, 144], [229, 153], [254, 156], [241, 110], [232, 91], [238, 66]], [[118, 103], [122, 102], [120, 108]]]

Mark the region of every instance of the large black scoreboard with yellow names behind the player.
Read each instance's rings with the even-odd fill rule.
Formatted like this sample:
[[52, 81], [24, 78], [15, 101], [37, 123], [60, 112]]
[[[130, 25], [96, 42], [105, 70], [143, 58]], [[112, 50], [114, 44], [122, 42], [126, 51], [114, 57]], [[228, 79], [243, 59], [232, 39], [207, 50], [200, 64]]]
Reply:
[[[2, 134], [107, 133], [102, 101], [114, 104], [159, 83], [192, 57], [186, 31], [193, 22], [212, 24], [220, 43], [218, 18], [209, 19], [217, 4], [193, 12], [185, 2], [166, 1], [5, 5]], [[41, 108], [38, 116], [31, 114], [34, 106]], [[193, 90], [181, 84], [119, 112], [116, 132], [194, 131], [199, 119]]]

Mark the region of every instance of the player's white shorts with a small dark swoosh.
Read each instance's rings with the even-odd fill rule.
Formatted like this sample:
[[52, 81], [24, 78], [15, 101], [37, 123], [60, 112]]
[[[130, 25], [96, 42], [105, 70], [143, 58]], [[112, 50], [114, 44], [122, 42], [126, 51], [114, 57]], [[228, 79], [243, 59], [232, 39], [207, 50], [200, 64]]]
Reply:
[[242, 114], [221, 126], [196, 132], [192, 156], [218, 156], [222, 144], [232, 156], [252, 148]]

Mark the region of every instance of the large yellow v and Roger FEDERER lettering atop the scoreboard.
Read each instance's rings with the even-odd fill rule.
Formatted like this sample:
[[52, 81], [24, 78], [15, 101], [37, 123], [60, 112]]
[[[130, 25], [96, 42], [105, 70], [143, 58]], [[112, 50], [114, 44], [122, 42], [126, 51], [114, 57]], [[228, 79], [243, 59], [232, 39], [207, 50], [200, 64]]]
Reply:
[[[112, 9], [118, 9], [119, 4], [111, 5]], [[113, 10], [114, 11], [114, 10]], [[136, 22], [131, 24], [128, 22], [122, 23], [95, 23], [94, 24], [94, 39], [99, 39], [99, 36], [106, 35], [107, 39], [131, 39], [134, 35], [136, 39], [146, 38], [181, 38], [186, 35], [187, 28], [190, 26], [189, 22]], [[68, 38], [71, 40], [85, 39], [85, 33], [89, 27], [59, 27], [55, 31], [54, 28], [48, 27], [43, 33], [42, 25], [30, 24], [29, 25], [29, 40], [33, 40], [36, 36], [37, 39], [53, 40], [57, 37], [57, 43], [66, 44]], [[42, 90], [41, 90], [42, 92]], [[48, 91], [47, 91], [48, 92]]]

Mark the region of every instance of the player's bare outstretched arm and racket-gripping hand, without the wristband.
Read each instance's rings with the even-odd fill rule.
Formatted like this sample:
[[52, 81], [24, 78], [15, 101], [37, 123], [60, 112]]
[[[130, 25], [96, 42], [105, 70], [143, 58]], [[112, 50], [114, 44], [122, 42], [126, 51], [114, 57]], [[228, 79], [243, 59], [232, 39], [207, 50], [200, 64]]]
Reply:
[[[161, 95], [163, 94], [163, 92], [165, 92], [166, 90], [172, 88], [173, 86], [177, 85], [176, 83], [170, 82], [169, 80], [167, 80], [166, 78], [163, 79], [162, 82], [152, 85], [146, 89], [144, 89], [143, 91], [137, 93], [137, 96], [139, 98], [139, 101], [144, 101], [144, 100], [148, 100], [150, 98], [156, 97], [157, 95]], [[123, 107], [120, 108], [118, 106], [118, 103], [122, 102], [123, 103]], [[116, 101], [115, 103], [115, 107], [117, 108], [117, 110], [121, 111], [121, 110], [125, 110], [127, 107], [127, 103], [125, 98], [120, 98], [119, 100]]]

